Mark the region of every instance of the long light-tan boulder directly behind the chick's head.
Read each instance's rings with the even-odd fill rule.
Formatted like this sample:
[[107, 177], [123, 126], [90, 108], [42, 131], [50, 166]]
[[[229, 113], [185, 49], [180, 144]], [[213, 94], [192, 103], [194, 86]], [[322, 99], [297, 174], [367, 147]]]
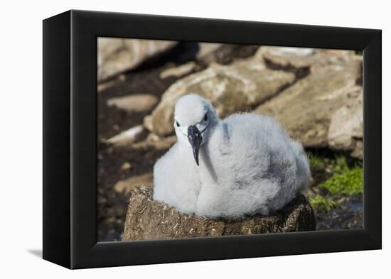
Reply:
[[218, 115], [225, 117], [254, 108], [294, 80], [294, 74], [269, 70], [257, 59], [250, 58], [227, 66], [214, 64], [168, 87], [151, 114], [151, 125], [148, 128], [158, 136], [173, 133], [174, 105], [180, 97], [191, 92], [209, 99]]

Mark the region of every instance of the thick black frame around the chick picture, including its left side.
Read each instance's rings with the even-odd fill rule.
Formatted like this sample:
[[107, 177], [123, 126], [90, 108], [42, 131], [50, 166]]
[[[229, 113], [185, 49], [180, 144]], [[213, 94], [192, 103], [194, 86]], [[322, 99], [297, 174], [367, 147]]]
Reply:
[[[97, 37], [363, 50], [364, 228], [97, 242]], [[382, 247], [381, 31], [67, 11], [43, 21], [43, 258], [67, 268]]]

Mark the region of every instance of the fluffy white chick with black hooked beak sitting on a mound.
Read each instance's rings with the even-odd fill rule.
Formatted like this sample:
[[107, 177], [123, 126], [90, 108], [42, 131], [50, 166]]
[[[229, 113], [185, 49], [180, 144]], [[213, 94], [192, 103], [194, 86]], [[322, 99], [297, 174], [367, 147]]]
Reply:
[[309, 185], [300, 143], [259, 114], [220, 120], [210, 102], [188, 94], [175, 106], [177, 143], [154, 166], [154, 199], [201, 217], [269, 214]]

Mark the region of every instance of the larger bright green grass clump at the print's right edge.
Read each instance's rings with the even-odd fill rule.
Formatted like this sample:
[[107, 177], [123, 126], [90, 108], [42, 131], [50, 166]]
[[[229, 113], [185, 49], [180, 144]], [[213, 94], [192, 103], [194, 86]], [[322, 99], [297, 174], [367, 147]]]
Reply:
[[319, 185], [331, 194], [356, 195], [363, 192], [363, 168], [343, 170]]

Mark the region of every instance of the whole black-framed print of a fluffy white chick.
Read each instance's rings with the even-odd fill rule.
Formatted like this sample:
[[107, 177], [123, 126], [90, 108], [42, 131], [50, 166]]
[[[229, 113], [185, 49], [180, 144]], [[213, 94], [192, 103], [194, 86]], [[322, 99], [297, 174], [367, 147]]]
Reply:
[[45, 19], [43, 258], [381, 248], [381, 74], [379, 30]]

